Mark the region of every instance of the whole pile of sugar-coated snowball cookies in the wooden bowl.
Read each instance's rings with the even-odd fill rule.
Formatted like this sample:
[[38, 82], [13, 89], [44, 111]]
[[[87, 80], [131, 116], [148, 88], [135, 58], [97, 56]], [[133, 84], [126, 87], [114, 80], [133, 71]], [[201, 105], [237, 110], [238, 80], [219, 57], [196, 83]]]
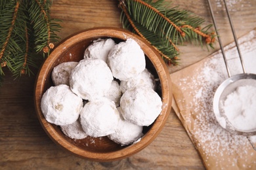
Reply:
[[93, 41], [81, 61], [54, 67], [52, 79], [41, 110], [72, 139], [108, 136], [121, 146], [131, 144], [161, 112], [154, 76], [133, 39]]

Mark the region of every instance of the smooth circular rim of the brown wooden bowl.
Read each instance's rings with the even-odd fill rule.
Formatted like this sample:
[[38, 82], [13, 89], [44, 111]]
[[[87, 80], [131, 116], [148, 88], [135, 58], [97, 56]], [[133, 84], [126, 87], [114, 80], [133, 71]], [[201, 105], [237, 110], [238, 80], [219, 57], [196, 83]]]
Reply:
[[[112, 32], [110, 35], [109, 32]], [[83, 41], [87, 38], [93, 38], [91, 35], [94, 35], [93, 37], [112, 37], [116, 39], [126, 40], [126, 39], [134, 39], [138, 42], [140, 45], [140, 48], [147, 49], [148, 53], [146, 56], [154, 55], [156, 58], [154, 58], [154, 61], [152, 61], [152, 58], [149, 58], [154, 67], [161, 68], [158, 72], [158, 76], [160, 78], [161, 82], [161, 92], [162, 92], [162, 110], [157, 121], [154, 122], [152, 127], [148, 130], [148, 132], [140, 139], [140, 142], [133, 143], [130, 146], [127, 146], [125, 148], [122, 148], [121, 150], [116, 150], [113, 152], [106, 152], [106, 153], [98, 153], [98, 152], [91, 152], [88, 150], [83, 150], [77, 146], [74, 146], [70, 144], [68, 141], [63, 140], [62, 136], [56, 132], [56, 130], [53, 127], [53, 124], [47, 122], [45, 119], [45, 116], [43, 116], [43, 113], [41, 112], [41, 97], [43, 95], [43, 89], [45, 88], [45, 78], [47, 73], [51, 69], [51, 63], [54, 63], [56, 61], [57, 56], [62, 54], [62, 52], [65, 52], [68, 50], [68, 47], [72, 46], [74, 43], [78, 43], [80, 41]], [[42, 70], [44, 69], [44, 71]], [[160, 72], [163, 72], [161, 74]], [[171, 103], [173, 99], [173, 93], [171, 88], [171, 77], [169, 76], [169, 71], [167, 69], [167, 66], [165, 65], [165, 62], [161, 58], [160, 54], [156, 52], [156, 50], [150, 45], [150, 43], [146, 42], [144, 39], [139, 37], [139, 35], [136, 35], [135, 33], [131, 33], [130, 31], [127, 31], [126, 29], [121, 29], [117, 27], [93, 27], [90, 29], [85, 29], [83, 31], [79, 31], [77, 33], [74, 33], [73, 35], [70, 35], [66, 39], [64, 39], [62, 42], [56, 46], [56, 48], [53, 50], [53, 52], [49, 55], [48, 58], [45, 59], [43, 64], [41, 65], [41, 68], [39, 69], [39, 72], [37, 74], [37, 78], [35, 80], [35, 90], [34, 90], [34, 103], [35, 103], [35, 111], [37, 114], [37, 118], [39, 119], [39, 122], [47, 135], [56, 143], [58, 146], [61, 146], [61, 148], [64, 148], [65, 150], [68, 150], [72, 154], [75, 154], [76, 156], [79, 156], [81, 158], [85, 158], [87, 160], [91, 161], [114, 161], [114, 160], [121, 160], [123, 158], [127, 158], [129, 156], [132, 156], [133, 154], [136, 154], [148, 144], [152, 143], [154, 139], [157, 137], [157, 135], [160, 133], [161, 129], [163, 128], [168, 116], [169, 112], [171, 111]], [[39, 95], [38, 95], [39, 94]], [[163, 97], [164, 96], [164, 97]], [[155, 127], [155, 128], [154, 128]]]

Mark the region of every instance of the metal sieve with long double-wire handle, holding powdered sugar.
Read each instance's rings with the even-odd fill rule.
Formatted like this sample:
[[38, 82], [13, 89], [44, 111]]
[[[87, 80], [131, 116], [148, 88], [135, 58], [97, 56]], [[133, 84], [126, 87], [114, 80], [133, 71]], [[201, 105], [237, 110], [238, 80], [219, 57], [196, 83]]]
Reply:
[[[244, 136], [249, 137], [251, 135], [256, 135], [256, 129], [251, 129], [250, 131], [241, 131], [239, 129], [236, 129], [234, 126], [232, 126], [232, 124], [230, 123], [228, 118], [226, 118], [226, 115], [224, 114], [224, 110], [223, 110], [223, 103], [224, 103], [224, 100], [226, 99], [226, 96], [228, 94], [234, 92], [234, 90], [236, 90], [236, 88], [238, 88], [239, 86], [245, 86], [245, 85], [256, 86], [256, 75], [251, 74], [251, 73], [245, 73], [244, 61], [242, 59], [242, 55], [241, 55], [241, 52], [240, 52], [238, 40], [236, 38], [236, 33], [234, 31], [234, 26], [232, 24], [232, 20], [230, 18], [230, 14], [228, 12], [228, 7], [226, 5], [226, 1], [225, 0], [223, 0], [223, 1], [224, 1], [224, 6], [226, 8], [226, 13], [228, 15], [228, 20], [230, 22], [230, 27], [232, 29], [232, 33], [233, 33], [233, 36], [234, 36], [234, 41], [236, 42], [236, 48], [238, 50], [240, 62], [241, 62], [242, 69], [243, 69], [244, 73], [238, 74], [238, 75], [233, 75], [233, 76], [230, 75], [230, 70], [228, 69], [227, 59], [226, 59], [226, 56], [225, 56], [225, 53], [224, 53], [221, 38], [219, 37], [217, 24], [215, 22], [215, 17], [213, 15], [213, 10], [212, 10], [212, 7], [211, 7], [211, 3], [210, 3], [210, 0], [208, 0], [209, 9], [210, 9], [210, 12], [211, 12], [211, 17], [213, 19], [213, 24], [215, 26], [215, 31], [216, 31], [216, 34], [217, 34], [217, 37], [218, 37], [218, 40], [219, 40], [219, 44], [221, 46], [221, 52], [223, 54], [224, 63], [226, 65], [226, 71], [228, 73], [228, 78], [226, 80], [224, 80], [224, 82], [222, 82], [222, 84], [217, 88], [217, 91], [215, 92], [215, 95], [213, 97], [213, 112], [215, 114], [217, 122], [219, 122], [219, 124], [224, 129], [226, 129], [230, 133], [234, 133], [235, 135], [244, 135]], [[255, 112], [255, 114], [256, 114], [256, 112]], [[256, 124], [256, 121], [255, 121], [255, 124]], [[253, 143], [251, 143], [251, 144], [253, 145]]]

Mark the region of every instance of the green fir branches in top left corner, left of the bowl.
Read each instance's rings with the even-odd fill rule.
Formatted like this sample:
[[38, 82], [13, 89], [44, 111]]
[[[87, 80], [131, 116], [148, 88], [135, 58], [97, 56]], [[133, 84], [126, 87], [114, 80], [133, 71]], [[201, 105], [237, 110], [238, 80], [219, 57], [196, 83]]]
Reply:
[[0, 85], [8, 68], [15, 77], [33, 75], [49, 55], [60, 20], [50, 17], [51, 0], [0, 0]]

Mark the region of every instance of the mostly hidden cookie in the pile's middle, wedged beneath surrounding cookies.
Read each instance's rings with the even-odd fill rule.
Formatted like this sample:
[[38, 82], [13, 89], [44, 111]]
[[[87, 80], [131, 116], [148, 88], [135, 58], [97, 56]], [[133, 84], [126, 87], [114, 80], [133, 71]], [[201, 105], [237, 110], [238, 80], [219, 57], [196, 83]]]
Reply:
[[105, 97], [114, 101], [116, 103], [116, 107], [119, 107], [121, 95], [122, 93], [118, 82], [116, 80], [113, 80], [110, 89], [106, 93]]

